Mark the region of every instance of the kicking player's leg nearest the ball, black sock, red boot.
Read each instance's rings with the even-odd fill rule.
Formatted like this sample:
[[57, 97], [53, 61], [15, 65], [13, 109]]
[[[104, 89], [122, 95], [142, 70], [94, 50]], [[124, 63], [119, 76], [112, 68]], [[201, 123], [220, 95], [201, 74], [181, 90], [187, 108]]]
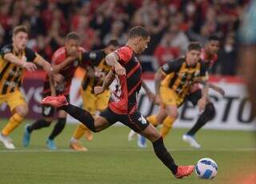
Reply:
[[193, 172], [194, 166], [177, 166], [175, 164], [174, 159], [168, 150], [166, 150], [161, 134], [138, 111], [134, 114], [127, 115], [126, 121], [125, 119], [121, 119], [120, 122], [123, 122], [126, 126], [129, 126], [134, 131], [142, 134], [143, 137], [149, 139], [154, 146], [154, 153], [176, 178], [182, 178]]

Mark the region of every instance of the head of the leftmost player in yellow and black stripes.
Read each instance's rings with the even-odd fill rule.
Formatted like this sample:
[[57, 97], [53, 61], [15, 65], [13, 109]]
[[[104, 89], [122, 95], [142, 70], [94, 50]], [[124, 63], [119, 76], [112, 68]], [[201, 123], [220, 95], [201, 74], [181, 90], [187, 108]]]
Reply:
[[28, 30], [26, 26], [14, 27], [12, 40], [18, 50], [24, 50], [28, 40]]

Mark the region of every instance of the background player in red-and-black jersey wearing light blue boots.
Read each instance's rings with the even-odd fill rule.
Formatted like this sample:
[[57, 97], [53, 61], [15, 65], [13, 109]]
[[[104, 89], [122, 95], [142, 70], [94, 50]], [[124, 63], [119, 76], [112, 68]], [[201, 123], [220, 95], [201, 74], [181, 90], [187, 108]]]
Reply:
[[[79, 35], [71, 32], [66, 35], [65, 46], [62, 46], [56, 50], [52, 57], [52, 65], [54, 71], [63, 76], [63, 82], [61, 79], [54, 78], [58, 81], [58, 85], [55, 87], [55, 92], [57, 95], [63, 94], [69, 99], [71, 80], [74, 76], [74, 72], [79, 64], [82, 64], [82, 52], [85, 50], [79, 46], [80, 38]], [[46, 78], [44, 82], [44, 88], [42, 96], [46, 97], [51, 94], [49, 78]], [[29, 146], [30, 136], [33, 130], [39, 130], [43, 127], [50, 126], [54, 119], [54, 107], [53, 106], [42, 106], [42, 116], [43, 118], [38, 119], [31, 125], [26, 125], [25, 132], [23, 135], [23, 146]], [[46, 140], [46, 144], [50, 150], [56, 150], [57, 147], [54, 142], [54, 138], [62, 132], [66, 125], [66, 112], [64, 110], [58, 109], [58, 122], [54, 126], [54, 130], [51, 132], [50, 136]]]

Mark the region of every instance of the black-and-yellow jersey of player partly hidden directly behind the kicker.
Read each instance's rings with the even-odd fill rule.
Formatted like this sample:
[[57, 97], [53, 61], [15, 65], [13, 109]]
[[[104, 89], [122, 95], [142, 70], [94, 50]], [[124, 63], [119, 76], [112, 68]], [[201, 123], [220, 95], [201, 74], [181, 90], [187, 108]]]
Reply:
[[[87, 66], [91, 66], [93, 69], [97, 67], [98, 70], [101, 70], [105, 74], [111, 70], [111, 67], [106, 65], [106, 53], [104, 50], [95, 50], [90, 52], [85, 52], [82, 54], [82, 58], [89, 62], [90, 64]], [[92, 89], [92, 93], [94, 93], [94, 86], [102, 86], [103, 81], [100, 78], [90, 78], [87, 75], [82, 79], [82, 90], [86, 90], [88, 86]]]

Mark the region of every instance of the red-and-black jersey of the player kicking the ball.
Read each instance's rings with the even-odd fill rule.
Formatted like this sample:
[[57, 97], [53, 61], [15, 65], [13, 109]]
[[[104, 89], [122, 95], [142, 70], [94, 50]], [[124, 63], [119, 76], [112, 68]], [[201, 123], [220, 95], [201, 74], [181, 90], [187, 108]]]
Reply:
[[117, 85], [111, 92], [108, 106], [116, 114], [133, 114], [138, 108], [142, 66], [129, 46], [123, 46], [114, 53], [118, 55], [118, 62], [126, 69], [126, 75], [116, 76]]

